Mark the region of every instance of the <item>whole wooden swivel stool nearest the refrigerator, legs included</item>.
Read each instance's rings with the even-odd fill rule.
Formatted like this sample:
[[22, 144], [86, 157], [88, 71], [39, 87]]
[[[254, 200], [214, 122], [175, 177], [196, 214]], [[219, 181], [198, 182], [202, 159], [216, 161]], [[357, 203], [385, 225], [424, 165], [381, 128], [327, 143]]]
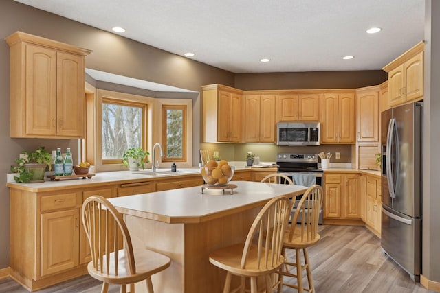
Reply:
[[[278, 283], [278, 292], [282, 292], [283, 285], [291, 288], [296, 288], [298, 292], [303, 293], [316, 292], [313, 278], [311, 277], [311, 268], [309, 262], [309, 255], [307, 255], [307, 247], [312, 246], [318, 242], [320, 235], [318, 234], [318, 220], [320, 207], [322, 205], [322, 187], [320, 185], [313, 185], [307, 189], [294, 213], [292, 223], [297, 223], [300, 218], [300, 224], [292, 224], [287, 228], [284, 236], [283, 255], [286, 259], [285, 266], [279, 272], [280, 282]], [[289, 261], [286, 250], [294, 249], [296, 260]], [[303, 251], [304, 264], [301, 261], [300, 253]], [[296, 268], [296, 274], [291, 270]], [[303, 285], [303, 270], [307, 272], [307, 281], [309, 288], [304, 288]], [[294, 277], [297, 279], [297, 285], [283, 283], [283, 276]]]

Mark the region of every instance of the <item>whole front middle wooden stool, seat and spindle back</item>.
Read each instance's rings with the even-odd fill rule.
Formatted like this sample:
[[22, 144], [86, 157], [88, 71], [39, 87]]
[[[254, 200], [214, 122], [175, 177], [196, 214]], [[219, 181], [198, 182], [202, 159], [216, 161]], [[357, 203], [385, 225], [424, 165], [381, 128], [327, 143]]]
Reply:
[[[244, 244], [220, 248], [210, 254], [210, 263], [227, 271], [223, 293], [244, 292], [246, 277], [250, 277], [250, 292], [257, 292], [257, 277], [264, 277], [266, 292], [272, 290], [270, 274], [285, 261], [281, 252], [290, 209], [286, 196], [272, 198], [256, 216]], [[232, 275], [241, 277], [241, 282], [231, 291]]]

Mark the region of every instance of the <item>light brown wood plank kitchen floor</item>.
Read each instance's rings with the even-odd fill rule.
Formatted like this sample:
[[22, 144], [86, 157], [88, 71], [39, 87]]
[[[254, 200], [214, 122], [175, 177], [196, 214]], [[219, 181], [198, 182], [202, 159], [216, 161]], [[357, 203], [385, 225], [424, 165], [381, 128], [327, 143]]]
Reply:
[[[321, 240], [307, 250], [318, 293], [428, 293], [380, 248], [380, 240], [362, 226], [320, 226]], [[153, 284], [154, 285], [154, 284]], [[100, 292], [101, 283], [88, 275], [39, 293]], [[10, 278], [0, 280], [0, 292], [28, 292]], [[119, 292], [111, 286], [109, 292]], [[283, 293], [296, 292], [283, 288]], [[161, 293], [161, 292], [157, 292]], [[163, 292], [166, 293], [166, 292]], [[207, 292], [208, 293], [208, 292]]]

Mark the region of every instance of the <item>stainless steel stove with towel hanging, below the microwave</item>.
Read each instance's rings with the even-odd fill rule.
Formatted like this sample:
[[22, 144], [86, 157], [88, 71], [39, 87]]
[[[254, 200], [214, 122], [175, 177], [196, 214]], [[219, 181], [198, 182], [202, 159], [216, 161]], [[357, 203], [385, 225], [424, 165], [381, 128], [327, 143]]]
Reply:
[[[318, 154], [277, 154], [276, 165], [278, 173], [291, 178], [296, 185], [310, 187], [318, 184], [322, 186], [322, 169], [318, 168]], [[299, 200], [295, 201], [295, 208]], [[300, 218], [298, 218], [300, 221]], [[319, 224], [322, 224], [322, 207], [319, 216]]]

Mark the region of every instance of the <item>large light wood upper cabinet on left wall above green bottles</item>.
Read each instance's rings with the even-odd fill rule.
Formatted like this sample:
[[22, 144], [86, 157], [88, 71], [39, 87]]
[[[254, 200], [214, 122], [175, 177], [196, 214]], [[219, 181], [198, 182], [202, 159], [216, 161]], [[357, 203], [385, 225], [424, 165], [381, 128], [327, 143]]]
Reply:
[[10, 137], [84, 137], [85, 56], [91, 51], [23, 32], [10, 45]]

